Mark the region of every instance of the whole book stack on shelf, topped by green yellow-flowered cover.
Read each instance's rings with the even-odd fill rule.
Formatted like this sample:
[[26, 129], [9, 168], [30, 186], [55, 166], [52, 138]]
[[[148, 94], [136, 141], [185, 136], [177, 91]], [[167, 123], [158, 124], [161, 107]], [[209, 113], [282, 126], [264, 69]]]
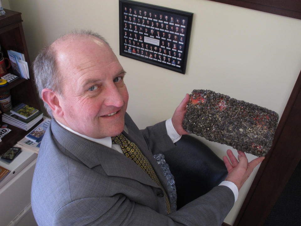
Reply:
[[2, 115], [3, 122], [26, 131], [42, 118], [42, 112], [24, 103], [15, 106], [10, 112], [6, 112]]

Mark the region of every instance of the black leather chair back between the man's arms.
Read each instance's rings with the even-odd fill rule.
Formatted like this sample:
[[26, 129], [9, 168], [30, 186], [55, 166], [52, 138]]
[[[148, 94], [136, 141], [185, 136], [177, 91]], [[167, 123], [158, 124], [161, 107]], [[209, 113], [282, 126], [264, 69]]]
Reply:
[[219, 185], [228, 173], [223, 160], [197, 138], [183, 135], [176, 146], [164, 156], [175, 178], [179, 209]]

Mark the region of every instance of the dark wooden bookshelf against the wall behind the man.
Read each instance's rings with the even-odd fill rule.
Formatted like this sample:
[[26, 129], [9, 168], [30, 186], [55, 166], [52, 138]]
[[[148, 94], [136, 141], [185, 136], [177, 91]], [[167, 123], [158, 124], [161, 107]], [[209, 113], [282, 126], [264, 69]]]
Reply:
[[[13, 106], [23, 102], [41, 110], [33, 80], [34, 75], [31, 70], [29, 55], [26, 47], [21, 13], [9, 9], [5, 9], [5, 12], [6, 15], [0, 16], [1, 51], [3, 52], [4, 57], [8, 57], [8, 50], [14, 50], [23, 53], [25, 56], [25, 61], [28, 63], [30, 79], [26, 80], [18, 78], [17, 80], [9, 83], [7, 86], [0, 87], [0, 92], [10, 90]], [[12, 68], [9, 68], [8, 72], [12, 73], [11, 70]], [[3, 123], [2, 121], [0, 121], [0, 123], [1, 125], [7, 124]], [[12, 131], [6, 134], [2, 138], [2, 142], [0, 142], [0, 155], [6, 152], [29, 132], [11, 125], [8, 125], [8, 128]]]

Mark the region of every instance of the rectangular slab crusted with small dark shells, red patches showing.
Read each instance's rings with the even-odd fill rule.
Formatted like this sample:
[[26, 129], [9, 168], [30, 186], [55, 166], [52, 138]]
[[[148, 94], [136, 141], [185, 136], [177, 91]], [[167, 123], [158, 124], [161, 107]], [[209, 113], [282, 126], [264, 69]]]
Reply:
[[209, 141], [265, 156], [272, 146], [278, 118], [276, 112], [267, 108], [211, 90], [195, 89], [182, 126]]

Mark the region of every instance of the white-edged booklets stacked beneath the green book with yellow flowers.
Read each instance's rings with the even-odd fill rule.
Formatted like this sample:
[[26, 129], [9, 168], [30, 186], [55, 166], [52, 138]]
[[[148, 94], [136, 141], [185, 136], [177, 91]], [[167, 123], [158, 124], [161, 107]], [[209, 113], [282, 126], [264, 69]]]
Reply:
[[6, 122], [10, 125], [16, 126], [26, 131], [31, 129], [31, 127], [34, 126], [42, 118], [43, 118], [43, 113], [40, 111], [37, 114], [34, 114], [32, 117], [29, 117], [28, 119], [19, 117], [12, 112], [6, 112], [2, 115], [3, 122]]

